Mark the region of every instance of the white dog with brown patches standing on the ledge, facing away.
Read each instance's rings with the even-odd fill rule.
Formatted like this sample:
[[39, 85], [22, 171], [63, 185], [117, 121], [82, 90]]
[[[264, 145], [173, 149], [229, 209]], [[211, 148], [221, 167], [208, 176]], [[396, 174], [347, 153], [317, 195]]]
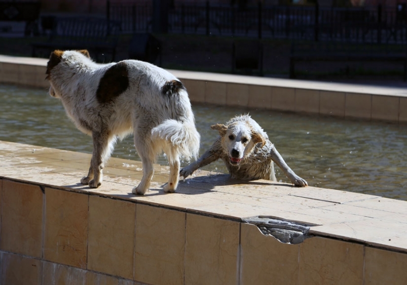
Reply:
[[97, 64], [86, 50], [52, 52], [46, 73], [50, 95], [62, 101], [77, 128], [93, 139], [89, 173], [82, 184], [101, 184], [104, 163], [117, 139], [133, 132], [143, 178], [132, 192], [144, 194], [149, 188], [153, 163], [162, 151], [170, 166], [164, 190], [175, 191], [180, 156], [197, 156], [200, 135], [188, 93], [174, 75], [137, 60]]

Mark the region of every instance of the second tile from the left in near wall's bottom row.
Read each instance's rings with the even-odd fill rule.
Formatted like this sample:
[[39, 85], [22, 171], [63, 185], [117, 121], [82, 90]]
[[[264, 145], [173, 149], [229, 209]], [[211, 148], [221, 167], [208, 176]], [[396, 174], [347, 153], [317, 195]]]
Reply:
[[43, 261], [42, 275], [44, 285], [86, 285], [86, 270], [76, 267]]

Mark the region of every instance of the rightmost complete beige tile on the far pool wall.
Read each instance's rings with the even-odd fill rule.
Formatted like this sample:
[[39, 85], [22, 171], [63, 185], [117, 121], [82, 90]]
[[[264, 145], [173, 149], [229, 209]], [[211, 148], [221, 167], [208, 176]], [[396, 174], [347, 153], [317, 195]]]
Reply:
[[398, 121], [399, 98], [372, 96], [372, 119]]

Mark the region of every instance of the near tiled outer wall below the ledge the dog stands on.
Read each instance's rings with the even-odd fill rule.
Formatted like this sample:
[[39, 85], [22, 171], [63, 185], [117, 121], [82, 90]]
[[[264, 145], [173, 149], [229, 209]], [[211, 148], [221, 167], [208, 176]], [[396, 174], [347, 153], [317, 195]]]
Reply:
[[407, 254], [0, 179], [0, 284], [405, 284]]

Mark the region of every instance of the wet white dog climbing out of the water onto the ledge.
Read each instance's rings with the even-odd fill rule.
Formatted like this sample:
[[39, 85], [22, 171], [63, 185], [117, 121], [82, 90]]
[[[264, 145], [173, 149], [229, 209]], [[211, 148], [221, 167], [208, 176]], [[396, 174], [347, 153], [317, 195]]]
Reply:
[[276, 181], [274, 161], [292, 184], [308, 185], [288, 167], [266, 132], [249, 115], [236, 116], [226, 125], [216, 124], [211, 128], [217, 130], [220, 136], [197, 161], [181, 169], [180, 176], [188, 177], [220, 158], [234, 179]]

